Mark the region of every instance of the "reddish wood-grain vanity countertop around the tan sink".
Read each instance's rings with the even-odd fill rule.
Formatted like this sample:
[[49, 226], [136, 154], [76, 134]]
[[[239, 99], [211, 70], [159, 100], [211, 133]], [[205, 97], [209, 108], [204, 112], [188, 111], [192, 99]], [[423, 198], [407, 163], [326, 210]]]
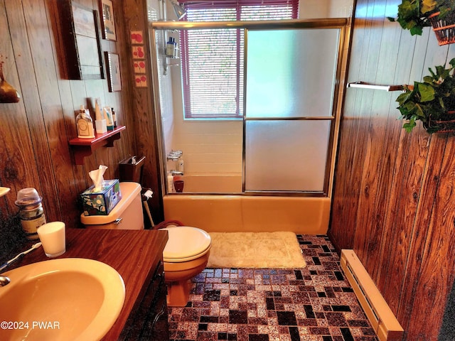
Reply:
[[[122, 311], [103, 340], [118, 340], [130, 313], [137, 308], [137, 302], [144, 298], [156, 264], [162, 259], [167, 240], [166, 231], [66, 229], [66, 252], [57, 259], [72, 257], [102, 261], [116, 269], [125, 283]], [[34, 242], [28, 243], [28, 247]], [[47, 260], [49, 258], [41, 247], [16, 264], [11, 264], [9, 269]]]

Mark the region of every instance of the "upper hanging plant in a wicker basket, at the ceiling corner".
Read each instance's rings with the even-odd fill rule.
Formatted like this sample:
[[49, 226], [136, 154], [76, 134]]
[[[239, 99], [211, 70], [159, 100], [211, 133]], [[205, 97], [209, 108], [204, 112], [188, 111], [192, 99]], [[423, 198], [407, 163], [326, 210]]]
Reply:
[[[454, 42], [455, 0], [402, 0], [398, 5], [397, 21], [411, 35], [422, 36], [424, 27], [433, 26], [439, 45]], [[441, 39], [441, 40], [440, 40]]]

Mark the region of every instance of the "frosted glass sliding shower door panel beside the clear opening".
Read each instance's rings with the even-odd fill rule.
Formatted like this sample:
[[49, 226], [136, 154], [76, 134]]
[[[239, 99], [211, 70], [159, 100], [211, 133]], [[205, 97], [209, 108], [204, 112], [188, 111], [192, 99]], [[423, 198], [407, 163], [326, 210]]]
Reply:
[[340, 34], [247, 31], [245, 192], [326, 193]]

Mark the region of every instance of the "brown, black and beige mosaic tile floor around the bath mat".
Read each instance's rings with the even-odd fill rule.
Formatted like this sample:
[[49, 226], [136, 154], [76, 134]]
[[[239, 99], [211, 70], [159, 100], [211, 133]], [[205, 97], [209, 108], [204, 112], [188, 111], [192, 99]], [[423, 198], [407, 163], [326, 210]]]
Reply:
[[205, 269], [169, 308], [173, 341], [376, 341], [326, 236], [297, 234], [302, 269]]

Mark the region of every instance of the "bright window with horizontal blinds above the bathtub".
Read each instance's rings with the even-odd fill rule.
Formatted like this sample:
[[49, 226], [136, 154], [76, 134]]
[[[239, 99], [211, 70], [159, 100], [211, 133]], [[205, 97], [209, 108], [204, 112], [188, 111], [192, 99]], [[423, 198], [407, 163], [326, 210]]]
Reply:
[[[180, 1], [187, 21], [297, 18], [298, 0]], [[244, 31], [181, 31], [183, 107], [186, 119], [243, 116]]]

